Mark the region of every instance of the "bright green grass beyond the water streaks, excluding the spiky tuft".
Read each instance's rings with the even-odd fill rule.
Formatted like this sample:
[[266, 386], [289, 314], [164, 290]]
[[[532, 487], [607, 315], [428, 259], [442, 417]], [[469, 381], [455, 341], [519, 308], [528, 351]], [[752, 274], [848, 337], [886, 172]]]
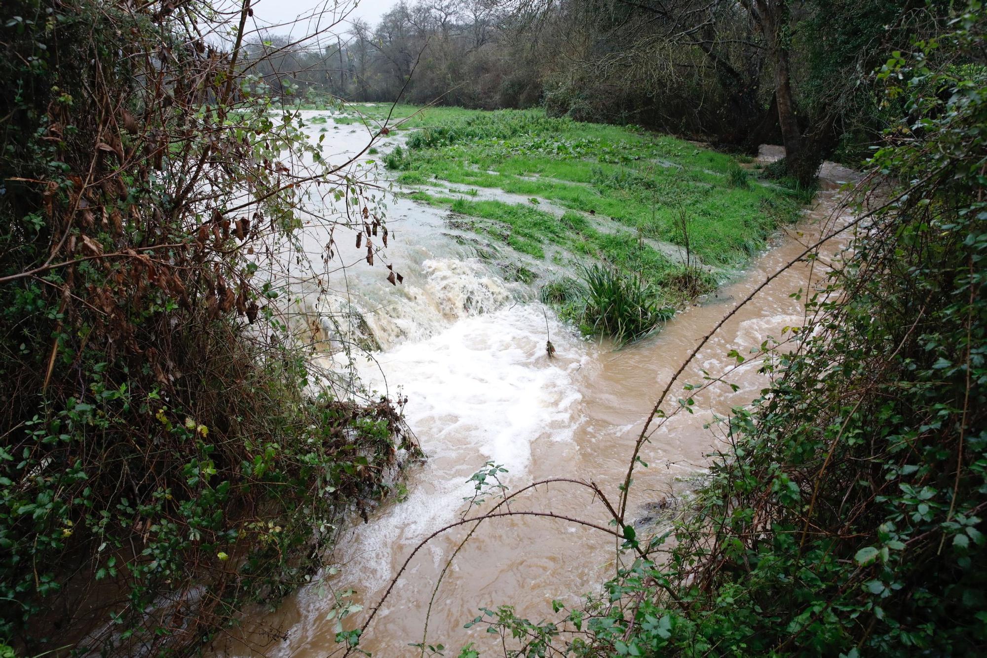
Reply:
[[[383, 120], [390, 106], [367, 107]], [[539, 110], [484, 112], [397, 106], [409, 134], [385, 165], [399, 181], [496, 188], [607, 217], [681, 245], [681, 207], [696, 217], [690, 242], [704, 263], [731, 266], [762, 248], [779, 221], [797, 218], [804, 194], [751, 184], [730, 155], [665, 135], [552, 119]], [[779, 211], [766, 214], [768, 200]]]

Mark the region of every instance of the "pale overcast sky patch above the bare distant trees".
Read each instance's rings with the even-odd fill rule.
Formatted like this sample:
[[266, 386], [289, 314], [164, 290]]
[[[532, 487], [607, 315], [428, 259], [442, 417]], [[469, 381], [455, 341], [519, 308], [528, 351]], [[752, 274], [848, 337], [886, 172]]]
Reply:
[[[295, 35], [311, 34], [319, 29], [325, 29], [334, 22], [332, 17], [342, 17], [345, 21], [361, 18], [371, 26], [376, 26], [380, 17], [398, 4], [399, 0], [256, 0], [251, 3], [254, 8], [254, 20], [259, 26], [291, 23], [294, 26], [271, 28], [273, 34]], [[355, 5], [355, 7], [353, 6]], [[348, 13], [347, 10], [349, 11]], [[321, 23], [317, 25], [313, 17], [322, 14]], [[299, 18], [300, 17], [300, 18]], [[342, 27], [345, 32], [347, 27]]]

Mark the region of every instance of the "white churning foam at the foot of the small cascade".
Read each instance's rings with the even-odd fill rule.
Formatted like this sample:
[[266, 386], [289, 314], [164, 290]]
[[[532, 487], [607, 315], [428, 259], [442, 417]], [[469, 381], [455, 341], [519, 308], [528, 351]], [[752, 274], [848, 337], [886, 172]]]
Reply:
[[429, 460], [400, 514], [358, 529], [348, 552], [359, 556], [360, 571], [389, 577], [392, 546], [458, 518], [473, 492], [466, 480], [485, 461], [503, 464], [506, 481], [524, 482], [534, 442], [571, 440], [580, 424], [576, 379], [589, 357], [586, 344], [558, 322], [550, 318], [549, 326], [566, 358], [545, 353], [540, 305], [517, 304], [460, 319], [361, 369], [364, 382], [381, 392], [387, 382], [400, 383], [389, 392], [408, 397], [407, 420]]

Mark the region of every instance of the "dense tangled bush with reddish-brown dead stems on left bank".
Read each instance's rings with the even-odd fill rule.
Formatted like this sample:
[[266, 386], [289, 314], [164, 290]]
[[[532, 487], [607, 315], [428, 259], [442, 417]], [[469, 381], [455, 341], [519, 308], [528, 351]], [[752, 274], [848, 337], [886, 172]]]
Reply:
[[200, 641], [305, 582], [416, 450], [292, 340], [271, 245], [321, 155], [210, 12], [0, 9], [0, 644], [27, 654]]

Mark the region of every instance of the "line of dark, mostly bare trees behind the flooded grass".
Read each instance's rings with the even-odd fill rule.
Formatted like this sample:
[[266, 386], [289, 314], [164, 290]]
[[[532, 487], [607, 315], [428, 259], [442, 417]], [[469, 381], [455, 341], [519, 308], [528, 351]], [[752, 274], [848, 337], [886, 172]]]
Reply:
[[878, 0], [419, 0], [306, 46], [259, 36], [276, 94], [468, 108], [544, 106], [751, 152], [789, 174], [860, 162], [901, 108], [872, 74], [945, 25], [948, 3]]

